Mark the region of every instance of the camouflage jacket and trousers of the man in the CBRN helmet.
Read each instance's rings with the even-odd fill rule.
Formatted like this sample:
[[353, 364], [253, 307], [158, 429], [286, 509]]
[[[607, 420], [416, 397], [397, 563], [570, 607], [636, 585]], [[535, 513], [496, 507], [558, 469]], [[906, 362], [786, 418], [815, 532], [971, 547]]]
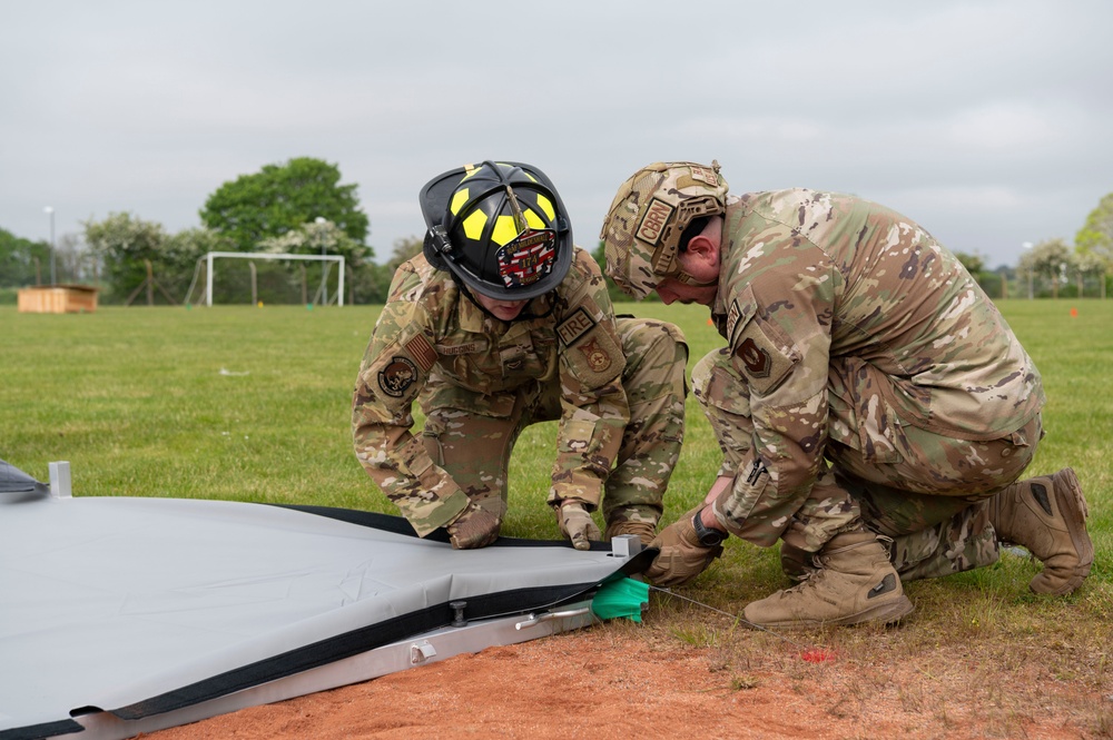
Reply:
[[959, 262], [909, 219], [805, 189], [727, 199], [693, 391], [750, 542], [815, 552], [861, 516], [903, 579], [997, 558], [987, 499], [1042, 436], [1040, 374]]

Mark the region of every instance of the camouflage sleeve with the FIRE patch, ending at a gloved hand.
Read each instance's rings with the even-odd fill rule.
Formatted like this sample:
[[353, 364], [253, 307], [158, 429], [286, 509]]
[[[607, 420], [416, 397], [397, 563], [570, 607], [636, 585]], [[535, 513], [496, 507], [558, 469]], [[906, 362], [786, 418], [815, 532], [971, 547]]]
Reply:
[[570, 282], [556, 324], [561, 421], [549, 503], [571, 499], [595, 509], [630, 421], [626, 358], [607, 285], [588, 253], [577, 250]]

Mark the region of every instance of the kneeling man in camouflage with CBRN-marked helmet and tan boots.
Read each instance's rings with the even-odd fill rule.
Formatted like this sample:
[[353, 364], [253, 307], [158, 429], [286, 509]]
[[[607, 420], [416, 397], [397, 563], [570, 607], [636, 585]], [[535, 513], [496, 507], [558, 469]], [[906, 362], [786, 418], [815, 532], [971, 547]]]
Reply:
[[765, 626], [895, 621], [900, 579], [989, 564], [999, 540], [1044, 561], [1033, 590], [1077, 588], [1093, 546], [1073, 471], [1014, 484], [1043, 434], [1040, 374], [955, 256], [859, 198], [726, 194], [717, 164], [650, 165], [601, 235], [623, 289], [706, 304], [727, 341], [692, 373], [719, 478], [651, 578], [695, 576], [729, 532], [782, 540], [804, 581], [747, 606]]

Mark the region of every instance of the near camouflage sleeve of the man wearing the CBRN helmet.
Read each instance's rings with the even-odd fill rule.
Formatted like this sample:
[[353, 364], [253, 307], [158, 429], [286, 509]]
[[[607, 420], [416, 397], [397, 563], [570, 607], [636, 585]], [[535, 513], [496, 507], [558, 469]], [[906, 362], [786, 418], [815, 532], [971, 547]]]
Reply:
[[752, 457], [715, 512], [732, 533], [771, 545], [823, 465], [834, 267], [798, 239], [766, 241], [764, 249], [729, 286], [727, 307], [731, 365], [749, 394]]

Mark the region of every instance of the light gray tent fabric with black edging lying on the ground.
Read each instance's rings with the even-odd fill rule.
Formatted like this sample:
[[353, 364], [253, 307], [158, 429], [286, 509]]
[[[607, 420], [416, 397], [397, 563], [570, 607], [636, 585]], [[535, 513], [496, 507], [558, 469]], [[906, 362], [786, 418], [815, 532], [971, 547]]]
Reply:
[[80, 738], [85, 713], [171, 712], [556, 606], [644, 560], [508, 539], [453, 551], [405, 529], [226, 501], [0, 499], [0, 740]]

